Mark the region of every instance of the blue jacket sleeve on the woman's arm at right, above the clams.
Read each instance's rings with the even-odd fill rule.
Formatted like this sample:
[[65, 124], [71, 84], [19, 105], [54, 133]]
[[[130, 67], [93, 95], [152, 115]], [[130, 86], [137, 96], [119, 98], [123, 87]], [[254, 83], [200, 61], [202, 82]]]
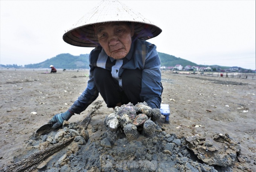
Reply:
[[142, 90], [141, 99], [151, 108], [160, 108], [162, 102], [161, 84], [161, 61], [158, 56], [156, 46], [151, 44], [146, 52], [145, 64], [142, 70]]

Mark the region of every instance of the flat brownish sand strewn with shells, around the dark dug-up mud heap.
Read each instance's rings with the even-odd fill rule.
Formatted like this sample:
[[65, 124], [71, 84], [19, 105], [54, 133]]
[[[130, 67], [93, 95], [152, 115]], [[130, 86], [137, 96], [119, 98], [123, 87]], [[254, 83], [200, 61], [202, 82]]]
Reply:
[[[56, 74], [40, 70], [0, 70], [0, 78], [2, 169], [37, 149], [35, 142], [31, 141], [32, 135], [52, 116], [66, 111], [73, 104], [86, 87], [88, 70], [61, 71]], [[255, 79], [164, 72], [162, 84], [162, 104], [169, 104], [171, 111], [170, 123], [165, 123], [164, 116], [158, 121], [162, 131], [175, 134], [177, 139], [210, 132], [228, 134], [234, 142], [241, 144], [241, 154], [229, 171], [255, 171]], [[102, 97], [99, 96], [96, 101], [102, 102]], [[90, 105], [69, 122], [81, 122], [93, 107]], [[103, 121], [111, 113], [113, 109], [107, 108], [102, 102], [88, 125], [90, 139], [87, 146], [104, 135], [106, 128]], [[117, 142], [117, 145], [122, 142]], [[83, 146], [79, 149], [82, 150]], [[69, 167], [72, 166], [70, 163], [72, 161], [67, 163]], [[50, 171], [50, 167], [48, 164], [48, 170], [45, 171]], [[97, 171], [96, 168], [91, 171], [93, 169]], [[218, 170], [221, 171], [221, 168]]]

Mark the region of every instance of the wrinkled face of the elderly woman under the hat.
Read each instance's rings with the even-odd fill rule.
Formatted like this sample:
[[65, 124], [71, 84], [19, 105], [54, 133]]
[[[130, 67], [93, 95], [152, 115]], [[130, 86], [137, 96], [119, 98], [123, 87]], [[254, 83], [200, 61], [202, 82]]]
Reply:
[[108, 56], [114, 59], [124, 58], [131, 49], [133, 27], [128, 23], [104, 23], [95, 26], [99, 44]]

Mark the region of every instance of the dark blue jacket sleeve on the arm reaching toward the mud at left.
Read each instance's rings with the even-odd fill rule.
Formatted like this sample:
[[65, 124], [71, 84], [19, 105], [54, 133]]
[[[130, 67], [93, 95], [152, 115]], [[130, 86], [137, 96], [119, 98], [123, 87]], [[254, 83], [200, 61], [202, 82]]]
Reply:
[[[89, 55], [90, 62], [90, 59], [92, 58], [91, 56], [93, 56], [93, 51]], [[73, 113], [80, 114], [99, 96], [99, 91], [93, 79], [94, 68], [95, 67], [90, 63], [90, 73], [89, 80], [87, 81], [87, 87], [85, 88], [83, 93], [78, 97], [78, 99], [73, 103], [73, 105], [69, 108], [69, 110]]]

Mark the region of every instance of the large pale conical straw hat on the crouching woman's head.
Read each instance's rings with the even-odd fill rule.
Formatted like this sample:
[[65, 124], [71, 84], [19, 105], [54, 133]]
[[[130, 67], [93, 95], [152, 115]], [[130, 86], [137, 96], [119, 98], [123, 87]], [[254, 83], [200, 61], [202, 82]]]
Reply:
[[[143, 17], [139, 12], [128, 8], [116, 0], [103, 0], [80, 20], [73, 24], [63, 35], [63, 40], [73, 46], [96, 47], [98, 39], [95, 37], [93, 24], [107, 22], [133, 22], [134, 33], [142, 40], [154, 38], [162, 32], [152, 21]], [[149, 34], [141, 34], [148, 30]]]

